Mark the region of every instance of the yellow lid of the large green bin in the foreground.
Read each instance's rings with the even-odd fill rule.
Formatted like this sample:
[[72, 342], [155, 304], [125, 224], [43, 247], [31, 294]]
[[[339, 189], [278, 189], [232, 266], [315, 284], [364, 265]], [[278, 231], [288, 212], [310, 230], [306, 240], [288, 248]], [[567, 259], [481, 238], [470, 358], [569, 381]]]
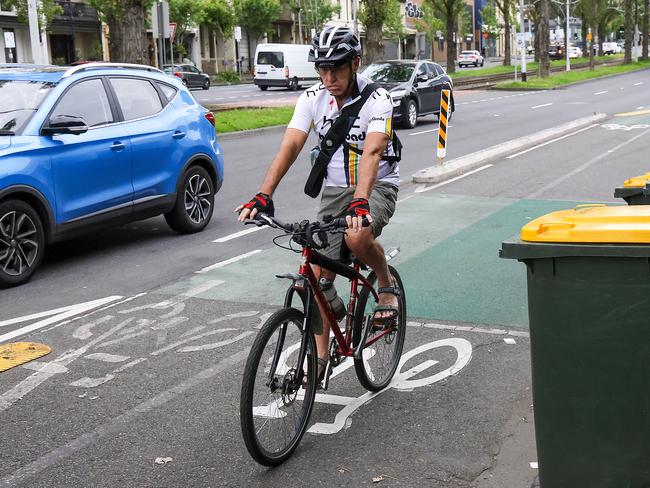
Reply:
[[521, 229], [529, 242], [650, 243], [650, 205], [580, 205], [539, 217]]

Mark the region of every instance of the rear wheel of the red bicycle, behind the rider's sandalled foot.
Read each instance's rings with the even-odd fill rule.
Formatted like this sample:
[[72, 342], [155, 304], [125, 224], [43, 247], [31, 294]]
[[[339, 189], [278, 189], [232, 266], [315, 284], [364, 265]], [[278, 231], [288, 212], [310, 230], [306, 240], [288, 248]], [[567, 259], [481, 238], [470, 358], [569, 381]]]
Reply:
[[[397, 297], [399, 303], [399, 313], [394, 324], [390, 326], [390, 332], [381, 337], [377, 342], [364, 347], [361, 358], [354, 360], [354, 369], [361, 385], [369, 391], [379, 391], [390, 383], [393, 379], [397, 366], [402, 356], [404, 347], [404, 338], [406, 336], [406, 295], [404, 294], [404, 285], [399, 273], [392, 266], [388, 266], [395, 283], [402, 291]], [[368, 275], [368, 281], [374, 286], [377, 276], [374, 272]], [[357, 306], [354, 313], [354, 328], [352, 333], [352, 344], [354, 347], [361, 342], [363, 337], [363, 327], [368, 315], [374, 315], [376, 303], [370, 295], [370, 290], [364, 287], [359, 293]], [[366, 343], [372, 340], [373, 336], [378, 335], [381, 331], [370, 332]]]

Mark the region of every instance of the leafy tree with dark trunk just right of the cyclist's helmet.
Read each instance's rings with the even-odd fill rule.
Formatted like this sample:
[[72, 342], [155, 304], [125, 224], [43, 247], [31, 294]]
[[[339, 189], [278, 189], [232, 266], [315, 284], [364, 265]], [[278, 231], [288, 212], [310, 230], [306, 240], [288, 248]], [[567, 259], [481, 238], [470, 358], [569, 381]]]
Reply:
[[384, 27], [388, 37], [400, 37], [403, 32], [398, 0], [362, 0], [359, 20], [366, 28], [366, 64], [384, 55]]

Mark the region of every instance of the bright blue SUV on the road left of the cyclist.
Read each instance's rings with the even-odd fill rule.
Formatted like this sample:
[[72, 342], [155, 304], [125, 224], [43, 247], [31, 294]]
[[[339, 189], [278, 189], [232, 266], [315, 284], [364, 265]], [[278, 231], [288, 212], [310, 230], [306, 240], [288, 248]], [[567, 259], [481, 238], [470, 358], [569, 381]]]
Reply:
[[160, 214], [202, 230], [223, 171], [213, 114], [156, 68], [0, 65], [0, 285], [80, 231]]

